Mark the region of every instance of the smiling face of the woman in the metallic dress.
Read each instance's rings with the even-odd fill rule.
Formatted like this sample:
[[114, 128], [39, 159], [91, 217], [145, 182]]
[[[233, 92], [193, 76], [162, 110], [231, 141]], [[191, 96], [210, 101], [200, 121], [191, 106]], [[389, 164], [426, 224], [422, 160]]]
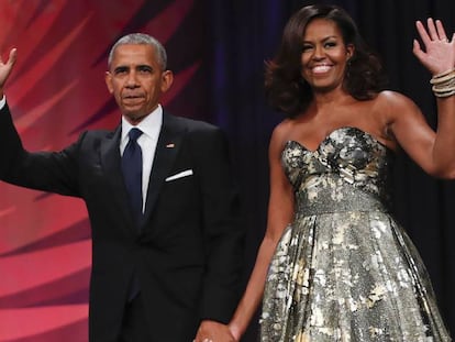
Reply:
[[345, 45], [336, 23], [314, 19], [303, 34], [301, 54], [302, 77], [315, 92], [326, 92], [341, 87], [353, 45]]

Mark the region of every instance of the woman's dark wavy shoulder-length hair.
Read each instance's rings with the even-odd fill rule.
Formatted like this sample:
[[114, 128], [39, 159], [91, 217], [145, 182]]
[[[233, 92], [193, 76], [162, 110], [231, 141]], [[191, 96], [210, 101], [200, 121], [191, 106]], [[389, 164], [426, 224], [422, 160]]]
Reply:
[[354, 46], [346, 65], [343, 88], [357, 100], [374, 98], [386, 84], [379, 57], [364, 43], [353, 19], [340, 7], [313, 4], [300, 9], [285, 26], [281, 46], [276, 57], [266, 62], [265, 92], [268, 103], [289, 118], [302, 113], [313, 92], [301, 76], [301, 54], [307, 25], [315, 18], [335, 22], [344, 44]]

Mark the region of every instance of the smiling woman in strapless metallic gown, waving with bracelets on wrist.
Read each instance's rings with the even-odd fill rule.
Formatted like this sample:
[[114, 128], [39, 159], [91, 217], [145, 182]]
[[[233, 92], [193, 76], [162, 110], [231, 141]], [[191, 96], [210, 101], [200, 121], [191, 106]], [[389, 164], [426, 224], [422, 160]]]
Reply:
[[451, 341], [423, 263], [388, 210], [399, 147], [430, 175], [455, 178], [455, 40], [432, 19], [417, 30], [437, 133], [409, 98], [381, 90], [380, 63], [342, 9], [306, 7], [287, 23], [266, 91], [288, 119], [270, 140], [267, 231], [229, 326], [235, 339], [264, 294], [263, 342]]

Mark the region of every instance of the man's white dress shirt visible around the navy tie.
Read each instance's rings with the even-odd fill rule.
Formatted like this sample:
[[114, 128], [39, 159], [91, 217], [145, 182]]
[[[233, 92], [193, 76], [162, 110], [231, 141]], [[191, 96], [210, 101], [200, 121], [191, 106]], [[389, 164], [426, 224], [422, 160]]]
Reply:
[[137, 125], [132, 125], [122, 117], [122, 137], [120, 140], [120, 154], [129, 142], [127, 133], [132, 128], [137, 128], [142, 131], [137, 143], [142, 150], [142, 211], [145, 210], [145, 201], [147, 197], [148, 180], [152, 172], [152, 164], [155, 157], [156, 143], [158, 142], [159, 131], [163, 124], [163, 108], [160, 104], [147, 117], [144, 118]]

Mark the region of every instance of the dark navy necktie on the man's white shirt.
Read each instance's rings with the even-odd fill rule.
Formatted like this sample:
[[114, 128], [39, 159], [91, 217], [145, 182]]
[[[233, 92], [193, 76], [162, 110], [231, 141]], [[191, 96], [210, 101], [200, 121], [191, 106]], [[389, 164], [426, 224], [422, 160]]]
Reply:
[[127, 135], [130, 141], [122, 156], [122, 172], [126, 189], [130, 195], [130, 205], [133, 210], [134, 220], [138, 228], [142, 220], [142, 150], [137, 144], [142, 131], [131, 129]]

